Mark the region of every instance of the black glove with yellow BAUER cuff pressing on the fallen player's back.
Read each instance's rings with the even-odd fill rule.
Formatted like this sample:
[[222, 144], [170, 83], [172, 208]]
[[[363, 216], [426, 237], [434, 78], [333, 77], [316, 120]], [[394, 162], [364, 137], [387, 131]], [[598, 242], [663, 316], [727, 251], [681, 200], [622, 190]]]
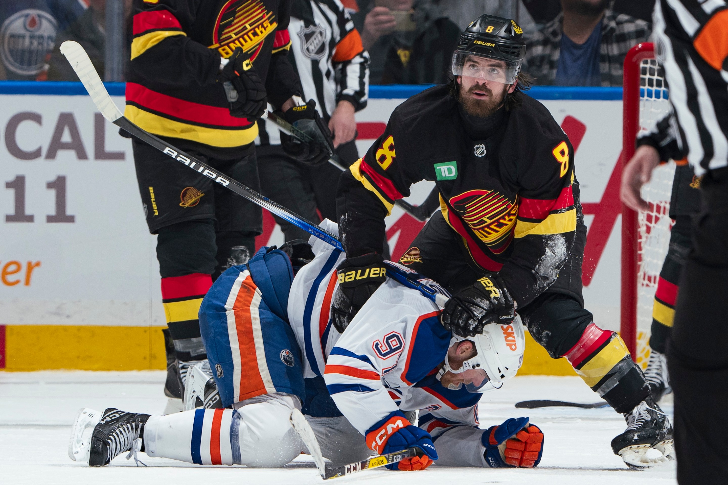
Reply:
[[336, 268], [339, 288], [333, 294], [331, 316], [333, 326], [343, 333], [362, 305], [387, 279], [384, 257], [370, 253], [349, 257]]

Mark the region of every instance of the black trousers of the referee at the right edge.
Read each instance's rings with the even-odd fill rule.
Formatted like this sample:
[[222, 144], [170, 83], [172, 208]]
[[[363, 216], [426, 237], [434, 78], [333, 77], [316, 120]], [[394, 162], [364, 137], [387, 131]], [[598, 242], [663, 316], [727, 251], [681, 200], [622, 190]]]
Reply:
[[668, 344], [678, 483], [728, 483], [728, 168], [703, 178]]

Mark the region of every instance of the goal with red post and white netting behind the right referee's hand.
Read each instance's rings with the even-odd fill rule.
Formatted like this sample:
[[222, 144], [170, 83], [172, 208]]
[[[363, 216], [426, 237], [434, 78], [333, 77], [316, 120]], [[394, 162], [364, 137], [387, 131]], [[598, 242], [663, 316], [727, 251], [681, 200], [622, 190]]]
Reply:
[[[642, 49], [638, 49], [639, 47]], [[628, 56], [628, 60], [625, 60], [625, 94], [628, 89], [634, 90], [638, 85], [639, 96], [636, 98], [625, 95], [624, 129], [630, 130], [625, 131], [625, 156], [634, 151], [635, 136], [632, 134], [636, 131], [638, 135], [651, 129], [670, 110], [664, 72], [654, 59], [652, 44], [640, 44], [633, 50], [640, 51], [641, 55], [634, 60], [630, 60]], [[629, 61], [636, 64], [632, 69], [627, 68]], [[627, 150], [628, 139], [631, 139], [631, 151]], [[628, 157], [625, 157], [626, 160]], [[625, 341], [635, 342], [636, 348], [630, 350], [636, 350], [635, 360], [643, 369], [649, 358], [654, 292], [662, 262], [668, 253], [670, 228], [673, 224], [668, 213], [674, 174], [674, 161], [660, 165], [652, 172], [652, 180], [642, 188], [642, 198], [649, 203], [650, 208], [648, 211], [638, 212], [636, 220], [634, 215], [625, 216], [625, 208], [622, 209], [625, 222], [636, 226], [631, 234], [632, 241], [622, 248], [622, 257], [625, 257], [625, 252], [633, 252], [635, 249], [637, 256], [636, 265], [622, 264], [622, 271], [628, 271], [627, 275], [622, 275], [622, 284], [636, 285], [636, 289], [622, 291], [622, 305], [630, 305], [632, 310], [626, 312], [626, 318], [631, 321], [625, 321], [625, 311], [622, 311], [622, 334], [625, 337], [625, 332], [628, 332], [630, 335]], [[622, 231], [625, 231], [624, 225]], [[623, 236], [623, 245], [624, 240]], [[625, 297], [625, 294], [629, 296]]]

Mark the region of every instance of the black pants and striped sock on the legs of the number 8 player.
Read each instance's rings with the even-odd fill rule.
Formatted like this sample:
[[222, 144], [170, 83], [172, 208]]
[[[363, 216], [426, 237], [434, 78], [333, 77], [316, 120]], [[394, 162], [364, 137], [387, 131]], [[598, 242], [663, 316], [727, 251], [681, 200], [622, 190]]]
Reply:
[[[574, 243], [569, 268], [561, 270], [556, 283], [529, 305], [518, 308], [518, 313], [531, 337], [551, 357], [566, 357], [579, 377], [615, 411], [630, 412], [649, 396], [649, 385], [622, 338], [616, 332], [596, 326], [592, 314], [584, 308], [582, 242]], [[487, 274], [475, 265], [440, 212], [430, 218], [411, 247], [419, 249], [419, 257], [415, 260], [403, 257], [400, 262], [438, 281], [451, 292], [474, 284]], [[405, 256], [409, 252], [410, 249]], [[413, 253], [416, 254], [414, 250]]]

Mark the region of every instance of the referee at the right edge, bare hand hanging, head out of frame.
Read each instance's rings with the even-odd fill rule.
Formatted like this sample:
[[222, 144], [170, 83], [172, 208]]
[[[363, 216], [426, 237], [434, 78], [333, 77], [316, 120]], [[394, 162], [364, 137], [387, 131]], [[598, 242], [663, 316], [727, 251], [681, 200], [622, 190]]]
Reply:
[[668, 369], [675, 393], [679, 484], [728, 482], [728, 5], [724, 0], [657, 0], [657, 58], [672, 110], [637, 140], [622, 174], [622, 201], [649, 206], [639, 189], [652, 169], [687, 156], [703, 176], [692, 220], [692, 251], [681, 274]]

